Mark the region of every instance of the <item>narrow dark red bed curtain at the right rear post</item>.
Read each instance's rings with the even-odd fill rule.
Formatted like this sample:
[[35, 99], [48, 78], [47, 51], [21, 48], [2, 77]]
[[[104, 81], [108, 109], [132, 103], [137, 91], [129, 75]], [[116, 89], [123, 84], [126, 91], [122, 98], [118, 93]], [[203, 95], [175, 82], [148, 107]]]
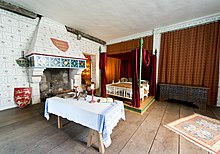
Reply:
[[157, 56], [151, 56], [151, 71], [150, 71], [150, 95], [156, 96], [156, 69], [157, 69]]

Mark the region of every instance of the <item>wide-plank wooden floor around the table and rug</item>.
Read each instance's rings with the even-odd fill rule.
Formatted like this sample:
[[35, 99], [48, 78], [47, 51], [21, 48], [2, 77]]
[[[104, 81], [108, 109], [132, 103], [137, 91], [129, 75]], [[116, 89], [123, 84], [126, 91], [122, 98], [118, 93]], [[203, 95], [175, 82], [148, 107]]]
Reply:
[[[25, 109], [1, 111], [0, 154], [98, 153], [97, 142], [90, 148], [86, 146], [86, 127], [63, 120], [64, 127], [58, 129], [57, 117], [51, 116], [47, 121], [43, 111], [43, 103]], [[114, 128], [112, 144], [105, 153], [207, 154], [163, 126], [194, 111], [183, 104], [158, 101], [143, 115], [126, 110], [126, 120], [120, 121]], [[199, 113], [220, 119], [220, 108], [208, 108], [206, 112]]]

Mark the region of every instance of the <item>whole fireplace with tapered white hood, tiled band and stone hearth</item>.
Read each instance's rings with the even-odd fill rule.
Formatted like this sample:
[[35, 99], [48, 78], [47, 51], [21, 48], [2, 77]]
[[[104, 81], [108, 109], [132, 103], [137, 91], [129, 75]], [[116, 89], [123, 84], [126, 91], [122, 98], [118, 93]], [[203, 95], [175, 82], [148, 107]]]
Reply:
[[65, 25], [46, 17], [40, 19], [25, 55], [30, 61], [33, 104], [41, 102], [44, 96], [70, 89], [71, 79], [81, 77], [86, 67], [86, 58], [67, 34]]

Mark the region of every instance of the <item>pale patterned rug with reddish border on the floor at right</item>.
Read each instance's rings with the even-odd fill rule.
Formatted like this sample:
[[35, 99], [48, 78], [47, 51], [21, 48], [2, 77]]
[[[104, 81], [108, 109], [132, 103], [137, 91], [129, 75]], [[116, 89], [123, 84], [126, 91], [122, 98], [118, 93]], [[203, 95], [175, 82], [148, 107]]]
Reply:
[[164, 125], [201, 148], [220, 154], [220, 121], [193, 114]]

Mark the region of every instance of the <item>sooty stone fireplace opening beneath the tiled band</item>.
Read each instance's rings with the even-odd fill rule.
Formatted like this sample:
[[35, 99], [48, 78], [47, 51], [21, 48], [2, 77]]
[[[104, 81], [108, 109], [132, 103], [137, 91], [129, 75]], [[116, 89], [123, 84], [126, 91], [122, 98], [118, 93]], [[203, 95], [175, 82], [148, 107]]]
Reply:
[[44, 70], [40, 81], [40, 98], [55, 96], [59, 93], [70, 90], [69, 69], [47, 68]]

